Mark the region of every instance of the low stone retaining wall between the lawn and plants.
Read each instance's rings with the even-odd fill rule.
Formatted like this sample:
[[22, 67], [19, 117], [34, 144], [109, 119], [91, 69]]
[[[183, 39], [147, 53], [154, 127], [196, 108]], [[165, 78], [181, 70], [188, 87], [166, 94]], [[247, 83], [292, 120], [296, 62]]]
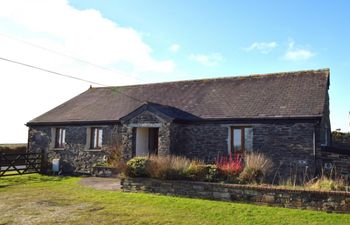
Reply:
[[169, 181], [149, 178], [122, 180], [124, 192], [146, 192], [285, 208], [350, 212], [350, 193], [286, 190], [238, 184]]

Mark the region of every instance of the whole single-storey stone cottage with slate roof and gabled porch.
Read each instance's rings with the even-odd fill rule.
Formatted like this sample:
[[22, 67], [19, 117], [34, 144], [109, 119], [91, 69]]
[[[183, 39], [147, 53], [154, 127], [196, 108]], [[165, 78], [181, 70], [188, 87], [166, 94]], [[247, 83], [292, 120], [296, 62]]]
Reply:
[[[90, 173], [118, 145], [134, 156], [259, 151], [315, 168], [330, 143], [329, 69], [90, 88], [29, 121], [29, 150]], [[117, 143], [117, 144], [116, 144]], [[283, 171], [283, 170], [281, 170]]]

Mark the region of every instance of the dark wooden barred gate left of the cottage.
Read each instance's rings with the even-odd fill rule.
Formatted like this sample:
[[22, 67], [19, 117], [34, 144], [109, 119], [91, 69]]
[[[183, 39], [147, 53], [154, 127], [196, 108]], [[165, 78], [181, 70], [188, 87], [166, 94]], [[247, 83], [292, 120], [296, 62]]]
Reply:
[[0, 177], [40, 173], [43, 153], [0, 153]]

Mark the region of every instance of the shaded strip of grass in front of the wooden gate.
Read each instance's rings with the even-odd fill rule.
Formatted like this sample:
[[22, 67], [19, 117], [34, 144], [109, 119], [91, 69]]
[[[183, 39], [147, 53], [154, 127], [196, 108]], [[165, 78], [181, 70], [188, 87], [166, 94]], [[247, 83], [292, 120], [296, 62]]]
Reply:
[[46, 176], [41, 174], [26, 174], [26, 175], [14, 175], [7, 177], [0, 177], [0, 188], [23, 185], [23, 184], [34, 184], [41, 182], [58, 182], [66, 180], [70, 177], [65, 176]]

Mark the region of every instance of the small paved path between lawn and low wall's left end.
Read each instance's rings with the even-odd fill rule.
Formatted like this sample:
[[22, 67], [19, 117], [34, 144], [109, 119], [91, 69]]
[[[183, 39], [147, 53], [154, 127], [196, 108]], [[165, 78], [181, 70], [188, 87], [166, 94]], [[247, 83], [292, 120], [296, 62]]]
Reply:
[[97, 190], [120, 191], [119, 178], [105, 178], [105, 177], [84, 177], [79, 182], [80, 185], [92, 187]]

